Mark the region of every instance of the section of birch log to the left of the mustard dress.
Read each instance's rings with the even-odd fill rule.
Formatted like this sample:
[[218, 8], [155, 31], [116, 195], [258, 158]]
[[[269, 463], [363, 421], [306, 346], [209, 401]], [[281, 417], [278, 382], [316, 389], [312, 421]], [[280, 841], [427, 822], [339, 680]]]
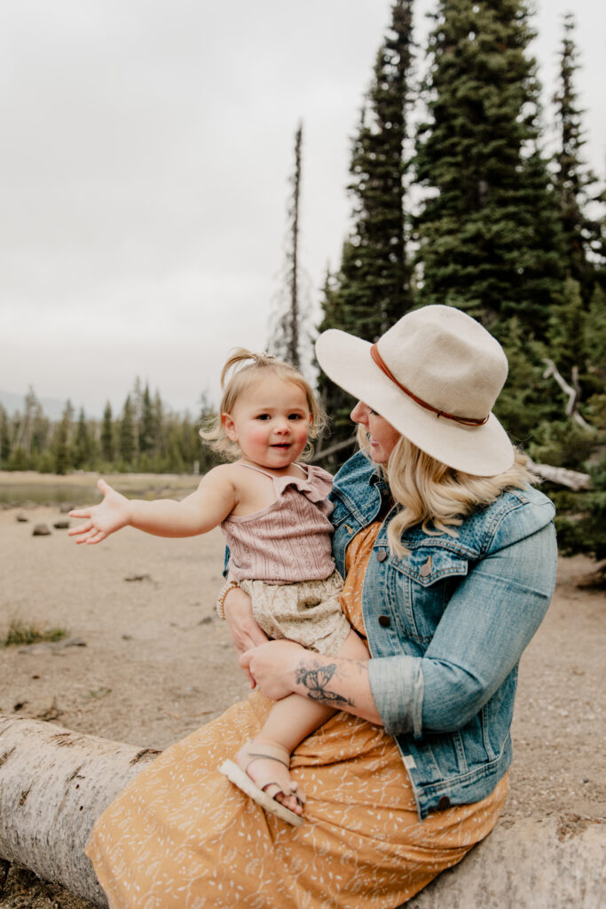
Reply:
[[0, 858], [106, 906], [84, 845], [96, 818], [157, 754], [0, 714]]

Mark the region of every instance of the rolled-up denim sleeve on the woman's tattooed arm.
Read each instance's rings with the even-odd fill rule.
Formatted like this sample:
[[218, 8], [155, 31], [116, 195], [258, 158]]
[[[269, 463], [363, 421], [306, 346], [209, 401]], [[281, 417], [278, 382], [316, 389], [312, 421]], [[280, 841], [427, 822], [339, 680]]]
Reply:
[[555, 583], [552, 524], [481, 559], [457, 587], [423, 656], [373, 658], [369, 681], [388, 734], [461, 729], [518, 664]]

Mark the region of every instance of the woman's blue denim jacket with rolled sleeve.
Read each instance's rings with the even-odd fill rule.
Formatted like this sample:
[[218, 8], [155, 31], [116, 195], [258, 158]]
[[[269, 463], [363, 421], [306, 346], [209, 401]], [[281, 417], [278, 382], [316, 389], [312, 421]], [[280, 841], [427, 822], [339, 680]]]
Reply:
[[[363, 453], [334, 478], [333, 554], [379, 514], [387, 484]], [[387, 514], [363, 586], [371, 690], [394, 735], [420, 818], [492, 793], [512, 761], [517, 667], [551, 601], [553, 505], [530, 486], [503, 493], [456, 528], [419, 525], [389, 551]]]

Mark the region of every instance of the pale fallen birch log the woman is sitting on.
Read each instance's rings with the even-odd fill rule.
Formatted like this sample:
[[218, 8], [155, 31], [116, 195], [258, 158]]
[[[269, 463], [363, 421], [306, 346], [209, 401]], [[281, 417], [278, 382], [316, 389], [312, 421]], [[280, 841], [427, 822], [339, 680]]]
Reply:
[[[95, 819], [156, 754], [0, 715], [0, 858], [106, 909], [84, 844]], [[605, 832], [578, 816], [497, 825], [406, 909], [601, 909]]]

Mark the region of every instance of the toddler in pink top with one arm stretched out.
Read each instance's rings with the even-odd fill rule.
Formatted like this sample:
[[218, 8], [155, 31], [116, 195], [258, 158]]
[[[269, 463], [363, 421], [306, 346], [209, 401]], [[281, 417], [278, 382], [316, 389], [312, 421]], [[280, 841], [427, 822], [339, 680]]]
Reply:
[[[214, 425], [201, 432], [234, 458], [205, 474], [181, 502], [128, 500], [100, 480], [104, 500], [71, 512], [85, 523], [77, 543], [101, 543], [130, 525], [159, 536], [205, 534], [221, 525], [230, 549], [229, 577], [251, 595], [253, 617], [272, 638], [321, 654], [368, 659], [348, 624], [341, 576], [331, 554], [331, 474], [300, 464], [322, 413], [310, 385], [292, 366], [238, 348], [224, 365]], [[303, 794], [288, 768], [293, 749], [335, 711], [298, 694], [274, 704], [261, 733], [219, 768], [257, 804], [302, 824]]]

